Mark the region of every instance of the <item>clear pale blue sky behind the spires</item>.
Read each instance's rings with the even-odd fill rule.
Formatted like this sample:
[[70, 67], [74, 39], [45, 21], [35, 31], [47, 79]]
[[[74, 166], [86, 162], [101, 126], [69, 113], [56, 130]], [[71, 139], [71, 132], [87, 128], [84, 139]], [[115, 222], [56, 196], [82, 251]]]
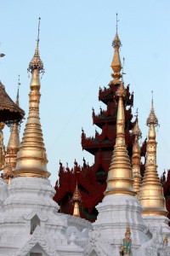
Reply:
[[[161, 175], [170, 169], [170, 2], [167, 0], [1, 0], [0, 80], [15, 101], [20, 74], [20, 108], [28, 113], [30, 80], [27, 67], [34, 55], [38, 18], [40, 55], [45, 74], [41, 79], [40, 117], [48, 154], [51, 183], [58, 178], [59, 160], [69, 167], [83, 156], [89, 164], [94, 156], [82, 151], [82, 127], [94, 136], [92, 108], [99, 113], [99, 86], [111, 80], [111, 43], [116, 33], [125, 58], [124, 82], [134, 92], [133, 114], [139, 108], [143, 140], [150, 113], [151, 90], [160, 127], [156, 129], [157, 165]], [[26, 120], [21, 125], [20, 140]], [[99, 130], [98, 130], [99, 131]], [[7, 145], [9, 128], [3, 130]]]

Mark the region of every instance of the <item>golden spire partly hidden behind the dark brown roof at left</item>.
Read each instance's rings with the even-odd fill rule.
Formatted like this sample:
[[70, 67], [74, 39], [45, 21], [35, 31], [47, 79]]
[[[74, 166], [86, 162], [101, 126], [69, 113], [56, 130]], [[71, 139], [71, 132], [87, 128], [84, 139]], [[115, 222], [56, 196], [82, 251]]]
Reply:
[[[18, 80], [18, 90], [16, 96], [16, 105], [19, 107], [19, 86], [20, 86], [20, 75]], [[14, 169], [16, 166], [16, 156], [20, 148], [20, 137], [19, 137], [19, 124], [14, 123], [11, 127], [11, 133], [8, 140], [7, 153], [5, 155], [5, 167], [3, 170], [3, 179], [6, 183], [9, 182], [10, 178], [14, 177]]]

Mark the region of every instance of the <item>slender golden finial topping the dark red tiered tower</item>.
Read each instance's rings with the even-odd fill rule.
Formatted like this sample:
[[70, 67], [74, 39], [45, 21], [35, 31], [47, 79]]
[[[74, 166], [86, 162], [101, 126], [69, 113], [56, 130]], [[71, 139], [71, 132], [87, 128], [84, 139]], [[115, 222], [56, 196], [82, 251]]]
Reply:
[[116, 36], [112, 42], [112, 46], [115, 50], [114, 55], [113, 55], [113, 60], [111, 62], [111, 68], [114, 73], [111, 74], [113, 80], [110, 82], [111, 84], [120, 84], [120, 79], [122, 78], [121, 69], [122, 69], [122, 64], [121, 64], [121, 59], [119, 55], [119, 48], [122, 46], [121, 40], [119, 39], [118, 33], [117, 33], [117, 23], [119, 20], [117, 20], [117, 14], [116, 14]]

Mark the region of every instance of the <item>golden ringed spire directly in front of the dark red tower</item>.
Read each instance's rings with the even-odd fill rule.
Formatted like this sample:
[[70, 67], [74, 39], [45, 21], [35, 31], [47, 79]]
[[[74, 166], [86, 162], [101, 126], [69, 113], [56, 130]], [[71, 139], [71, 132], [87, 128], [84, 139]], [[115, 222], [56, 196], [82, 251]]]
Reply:
[[133, 190], [133, 172], [125, 145], [123, 98], [126, 97], [126, 90], [123, 82], [116, 90], [116, 96], [119, 97], [116, 119], [116, 144], [108, 172], [105, 195], [135, 195], [136, 193]]

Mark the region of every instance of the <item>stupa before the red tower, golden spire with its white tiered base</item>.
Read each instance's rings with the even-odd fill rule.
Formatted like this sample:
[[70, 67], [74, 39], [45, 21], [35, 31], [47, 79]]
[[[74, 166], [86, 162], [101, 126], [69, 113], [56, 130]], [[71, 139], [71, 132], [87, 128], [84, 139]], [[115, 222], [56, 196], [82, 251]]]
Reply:
[[105, 197], [96, 207], [99, 215], [93, 225], [100, 229], [101, 236], [105, 240], [113, 243], [113, 252], [118, 255], [118, 247], [122, 244], [127, 224], [132, 231], [133, 253], [142, 241], [147, 240], [147, 237], [143, 233], [145, 225], [140, 214], [143, 208], [139, 205], [136, 192], [133, 190], [133, 170], [125, 143], [123, 101], [126, 98], [126, 90], [123, 82], [116, 90], [116, 96], [118, 97], [116, 144], [108, 172]]

